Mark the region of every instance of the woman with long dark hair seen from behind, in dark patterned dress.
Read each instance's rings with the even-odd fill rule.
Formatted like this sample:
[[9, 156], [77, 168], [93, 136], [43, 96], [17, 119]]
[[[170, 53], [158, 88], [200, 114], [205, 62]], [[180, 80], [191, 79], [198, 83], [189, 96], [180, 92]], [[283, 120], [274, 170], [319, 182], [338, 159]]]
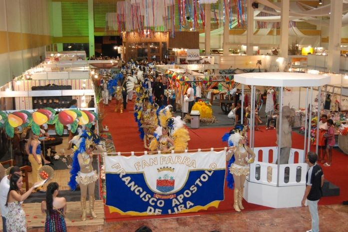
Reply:
[[45, 232], [66, 232], [66, 200], [58, 198], [58, 192], [58, 183], [50, 183], [47, 186], [46, 201], [41, 202], [41, 211], [46, 213]]

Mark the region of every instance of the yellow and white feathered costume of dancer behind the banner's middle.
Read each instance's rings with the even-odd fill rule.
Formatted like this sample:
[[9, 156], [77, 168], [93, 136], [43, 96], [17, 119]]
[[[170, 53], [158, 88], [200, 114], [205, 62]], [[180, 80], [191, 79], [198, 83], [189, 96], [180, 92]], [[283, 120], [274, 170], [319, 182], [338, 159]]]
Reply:
[[174, 151], [184, 151], [188, 147], [188, 141], [190, 140], [189, 132], [184, 127], [185, 122], [181, 120], [180, 116], [172, 117], [170, 110], [171, 105], [168, 105], [164, 109], [158, 110], [158, 121], [159, 126], [156, 128], [154, 133], [154, 139], [152, 139], [149, 150], [158, 150], [158, 142], [162, 136], [162, 127], [169, 129], [170, 137], [174, 141]]

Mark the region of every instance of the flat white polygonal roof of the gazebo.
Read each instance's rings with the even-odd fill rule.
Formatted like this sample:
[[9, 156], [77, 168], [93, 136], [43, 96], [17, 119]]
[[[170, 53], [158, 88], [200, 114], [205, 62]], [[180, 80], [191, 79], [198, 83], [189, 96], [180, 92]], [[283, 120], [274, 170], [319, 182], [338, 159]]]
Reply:
[[331, 77], [297, 72], [249, 72], [234, 75], [237, 83], [275, 87], [314, 87], [330, 83]]

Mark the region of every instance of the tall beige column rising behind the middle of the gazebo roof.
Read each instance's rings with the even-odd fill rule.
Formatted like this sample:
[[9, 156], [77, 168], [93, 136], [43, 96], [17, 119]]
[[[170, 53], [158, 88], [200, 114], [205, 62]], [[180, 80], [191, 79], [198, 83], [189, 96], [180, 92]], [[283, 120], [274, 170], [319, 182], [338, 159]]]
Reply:
[[288, 58], [290, 0], [282, 0], [279, 56]]

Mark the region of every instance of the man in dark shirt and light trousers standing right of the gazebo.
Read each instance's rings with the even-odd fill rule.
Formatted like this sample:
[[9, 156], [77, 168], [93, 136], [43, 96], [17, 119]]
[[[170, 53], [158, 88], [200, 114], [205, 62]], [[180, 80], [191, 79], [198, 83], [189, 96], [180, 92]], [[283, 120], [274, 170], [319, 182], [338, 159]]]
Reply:
[[317, 162], [318, 156], [314, 152], [309, 152], [307, 155], [307, 163], [310, 169], [306, 175], [306, 191], [303, 196], [301, 205], [307, 204], [312, 217], [312, 229], [307, 232], [319, 232], [319, 216], [318, 216], [318, 202], [323, 196], [322, 187], [324, 184], [324, 174], [322, 167]]

